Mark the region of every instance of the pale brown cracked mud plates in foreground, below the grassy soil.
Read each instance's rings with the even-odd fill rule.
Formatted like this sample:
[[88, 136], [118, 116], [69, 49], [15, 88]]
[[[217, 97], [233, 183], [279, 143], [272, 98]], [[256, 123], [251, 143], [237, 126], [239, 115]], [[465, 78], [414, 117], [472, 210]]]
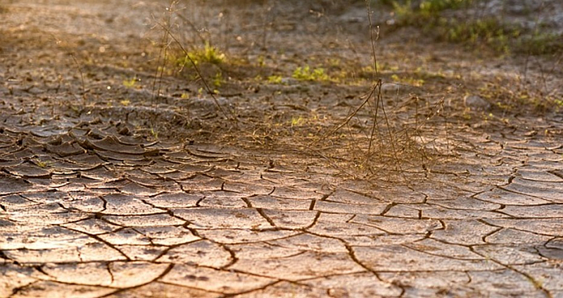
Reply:
[[1, 297], [563, 297], [561, 116], [374, 187], [1, 88]]

